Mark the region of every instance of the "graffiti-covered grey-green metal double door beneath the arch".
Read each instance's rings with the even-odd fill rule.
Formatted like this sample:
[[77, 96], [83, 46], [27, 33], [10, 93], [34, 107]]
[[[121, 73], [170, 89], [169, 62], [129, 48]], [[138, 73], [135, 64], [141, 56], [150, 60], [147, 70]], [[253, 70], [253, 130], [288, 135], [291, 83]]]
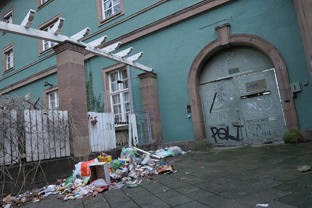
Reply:
[[275, 69], [199, 85], [211, 144], [282, 138], [284, 111]]

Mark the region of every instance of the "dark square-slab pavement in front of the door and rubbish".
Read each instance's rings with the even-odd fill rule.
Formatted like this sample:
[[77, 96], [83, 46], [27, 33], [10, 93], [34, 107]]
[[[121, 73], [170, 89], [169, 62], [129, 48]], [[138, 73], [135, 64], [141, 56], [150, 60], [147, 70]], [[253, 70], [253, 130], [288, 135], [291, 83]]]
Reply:
[[[157, 175], [139, 187], [108, 190], [97, 197], [61, 202], [48, 196], [24, 207], [269, 207], [312, 208], [312, 144], [269, 144], [188, 152], [170, 157], [178, 172]], [[188, 172], [188, 174], [186, 174]], [[179, 180], [181, 178], [185, 180]], [[128, 195], [127, 195], [128, 194]], [[260, 206], [257, 206], [260, 207]]]

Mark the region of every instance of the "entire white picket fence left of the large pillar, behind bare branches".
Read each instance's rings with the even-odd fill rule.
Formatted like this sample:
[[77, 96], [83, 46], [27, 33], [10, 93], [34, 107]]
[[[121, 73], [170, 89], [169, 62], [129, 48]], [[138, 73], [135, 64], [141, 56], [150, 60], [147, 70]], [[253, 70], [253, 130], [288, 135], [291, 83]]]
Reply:
[[0, 165], [18, 163], [25, 156], [31, 162], [70, 155], [67, 111], [25, 110], [21, 114], [0, 111]]

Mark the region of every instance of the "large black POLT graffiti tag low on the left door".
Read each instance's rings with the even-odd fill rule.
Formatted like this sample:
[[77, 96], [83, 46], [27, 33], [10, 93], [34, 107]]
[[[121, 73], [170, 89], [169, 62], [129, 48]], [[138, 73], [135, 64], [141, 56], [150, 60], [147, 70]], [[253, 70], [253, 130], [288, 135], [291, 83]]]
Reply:
[[210, 127], [210, 130], [212, 132], [211, 137], [214, 138], [216, 143], [224, 143], [224, 141], [218, 141], [217, 137], [220, 140], [226, 140], [226, 141], [232, 140], [233, 142], [237, 142], [240, 140], [239, 129], [241, 127], [243, 126], [228, 125], [228, 126]]

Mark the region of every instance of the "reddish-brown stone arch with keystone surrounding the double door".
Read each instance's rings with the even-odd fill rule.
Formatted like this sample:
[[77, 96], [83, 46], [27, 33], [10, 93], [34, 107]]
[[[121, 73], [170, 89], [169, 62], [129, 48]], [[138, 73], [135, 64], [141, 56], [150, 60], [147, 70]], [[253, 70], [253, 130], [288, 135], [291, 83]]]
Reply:
[[[221, 27], [218, 26], [215, 29], [217, 30], [219, 28], [224, 28], [224, 25], [222, 25]], [[210, 42], [197, 54], [188, 73], [188, 94], [190, 97], [195, 139], [202, 139], [206, 137], [205, 124], [202, 114], [202, 105], [198, 89], [198, 80], [202, 67], [207, 62], [207, 60], [211, 56], [213, 56], [217, 51], [232, 46], [251, 46], [262, 51], [263, 53], [265, 53], [267, 56], [270, 57], [275, 66], [279, 91], [282, 97], [288, 129], [298, 130], [299, 123], [296, 114], [294, 100], [291, 94], [287, 68], [280, 52], [270, 42], [255, 35], [250, 34], [230, 35], [229, 29], [227, 32], [221, 31], [221, 33], [223, 34], [220, 35], [220, 31], [217, 31], [219, 38]], [[285, 102], [285, 100], [290, 101]]]

